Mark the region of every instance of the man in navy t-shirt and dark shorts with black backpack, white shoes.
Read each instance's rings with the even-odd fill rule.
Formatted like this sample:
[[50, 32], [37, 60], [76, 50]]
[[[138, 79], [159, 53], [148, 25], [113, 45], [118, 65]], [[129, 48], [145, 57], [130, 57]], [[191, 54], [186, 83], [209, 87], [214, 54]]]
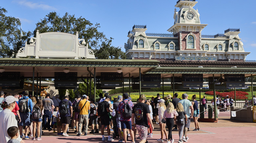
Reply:
[[[67, 134], [67, 130], [69, 128], [70, 120], [72, 117], [73, 113], [73, 107], [71, 101], [69, 101], [69, 96], [65, 96], [65, 99], [63, 99], [59, 103], [59, 114], [60, 114], [60, 119], [62, 123], [62, 132], [63, 136], [69, 136]], [[66, 125], [65, 125], [66, 124]]]

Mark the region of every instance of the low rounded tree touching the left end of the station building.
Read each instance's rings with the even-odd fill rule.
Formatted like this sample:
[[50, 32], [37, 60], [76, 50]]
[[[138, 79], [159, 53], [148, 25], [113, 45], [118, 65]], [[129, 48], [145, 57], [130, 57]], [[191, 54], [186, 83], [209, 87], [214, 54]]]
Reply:
[[94, 50], [95, 57], [98, 59], [126, 59], [126, 55], [119, 47], [111, 46], [113, 38], [103, 41], [99, 49]]

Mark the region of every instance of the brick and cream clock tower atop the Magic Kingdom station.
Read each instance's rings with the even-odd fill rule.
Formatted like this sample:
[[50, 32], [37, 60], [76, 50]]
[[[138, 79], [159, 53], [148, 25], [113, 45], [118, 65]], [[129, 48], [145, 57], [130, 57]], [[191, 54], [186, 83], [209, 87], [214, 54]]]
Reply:
[[[179, 0], [174, 10], [174, 25], [167, 31], [178, 35], [179, 50], [201, 50], [201, 31], [207, 24], [200, 23], [200, 14], [193, 7], [195, 0]], [[193, 53], [194, 53], [193, 52]]]

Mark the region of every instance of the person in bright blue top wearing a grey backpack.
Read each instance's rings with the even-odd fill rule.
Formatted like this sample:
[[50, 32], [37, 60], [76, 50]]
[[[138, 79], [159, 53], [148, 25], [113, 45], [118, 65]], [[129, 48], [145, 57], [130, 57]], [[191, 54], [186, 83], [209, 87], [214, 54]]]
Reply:
[[22, 138], [22, 129], [23, 129], [23, 126], [25, 126], [24, 139], [29, 139], [29, 136], [28, 136], [29, 126], [30, 126], [30, 123], [32, 122], [30, 120], [30, 116], [32, 114], [33, 105], [32, 105], [32, 100], [28, 96], [29, 96], [29, 91], [26, 90], [24, 92], [24, 97], [22, 97], [18, 103], [20, 108], [19, 113], [20, 113], [20, 119], [21, 119], [19, 123], [19, 130]]

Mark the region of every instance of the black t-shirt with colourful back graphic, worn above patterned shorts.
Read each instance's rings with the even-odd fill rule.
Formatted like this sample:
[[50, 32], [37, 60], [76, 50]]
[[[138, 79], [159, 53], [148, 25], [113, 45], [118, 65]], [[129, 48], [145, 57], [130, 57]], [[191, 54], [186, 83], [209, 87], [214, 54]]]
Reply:
[[132, 113], [135, 114], [135, 122], [137, 125], [148, 127], [147, 113], [150, 113], [149, 107], [145, 103], [137, 103], [133, 106]]

